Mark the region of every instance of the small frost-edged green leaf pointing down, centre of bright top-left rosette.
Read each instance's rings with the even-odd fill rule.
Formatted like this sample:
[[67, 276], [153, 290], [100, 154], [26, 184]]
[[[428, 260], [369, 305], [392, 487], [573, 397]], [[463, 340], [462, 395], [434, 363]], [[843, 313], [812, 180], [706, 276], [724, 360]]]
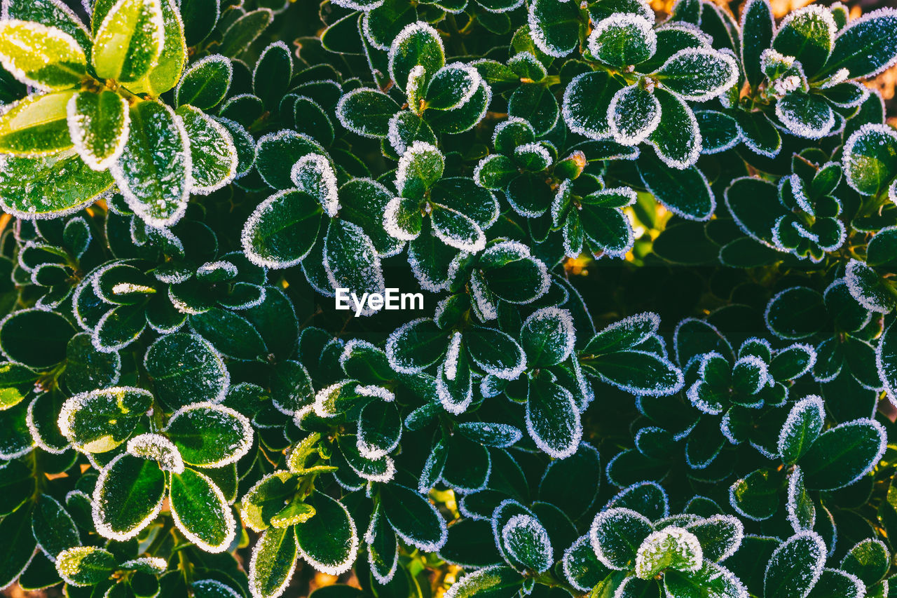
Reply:
[[68, 129], [74, 148], [95, 171], [118, 160], [130, 124], [125, 98], [116, 92], [78, 92], [68, 101]]

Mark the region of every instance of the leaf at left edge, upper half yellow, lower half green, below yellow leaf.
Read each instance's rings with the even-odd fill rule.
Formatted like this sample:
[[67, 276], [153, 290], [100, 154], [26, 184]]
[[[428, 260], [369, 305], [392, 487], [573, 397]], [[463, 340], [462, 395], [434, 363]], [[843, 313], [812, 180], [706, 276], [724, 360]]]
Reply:
[[10, 105], [0, 116], [0, 153], [39, 156], [72, 147], [65, 107], [74, 93], [31, 95]]

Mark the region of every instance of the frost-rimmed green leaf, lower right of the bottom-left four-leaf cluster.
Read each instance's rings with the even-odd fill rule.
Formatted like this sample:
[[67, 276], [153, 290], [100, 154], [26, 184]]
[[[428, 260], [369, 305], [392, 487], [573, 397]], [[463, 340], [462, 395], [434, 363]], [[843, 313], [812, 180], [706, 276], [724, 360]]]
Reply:
[[221, 489], [188, 467], [171, 473], [170, 487], [171, 516], [187, 540], [207, 552], [227, 550], [237, 523]]

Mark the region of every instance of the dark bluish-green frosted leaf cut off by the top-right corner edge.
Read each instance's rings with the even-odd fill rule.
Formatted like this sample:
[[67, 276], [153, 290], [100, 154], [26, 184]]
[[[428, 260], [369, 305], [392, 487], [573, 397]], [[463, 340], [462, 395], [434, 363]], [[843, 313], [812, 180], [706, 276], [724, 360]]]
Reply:
[[877, 75], [897, 59], [897, 10], [882, 8], [849, 22], [839, 31], [832, 56], [819, 77], [846, 68], [851, 79]]

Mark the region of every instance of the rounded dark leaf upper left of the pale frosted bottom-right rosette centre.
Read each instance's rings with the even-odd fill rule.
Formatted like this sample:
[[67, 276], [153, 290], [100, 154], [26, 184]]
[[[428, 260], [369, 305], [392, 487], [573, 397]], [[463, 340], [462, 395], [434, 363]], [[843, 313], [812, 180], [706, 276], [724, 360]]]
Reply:
[[633, 565], [643, 540], [653, 532], [648, 518], [627, 508], [612, 508], [595, 516], [588, 538], [595, 556], [605, 567], [617, 571]]

